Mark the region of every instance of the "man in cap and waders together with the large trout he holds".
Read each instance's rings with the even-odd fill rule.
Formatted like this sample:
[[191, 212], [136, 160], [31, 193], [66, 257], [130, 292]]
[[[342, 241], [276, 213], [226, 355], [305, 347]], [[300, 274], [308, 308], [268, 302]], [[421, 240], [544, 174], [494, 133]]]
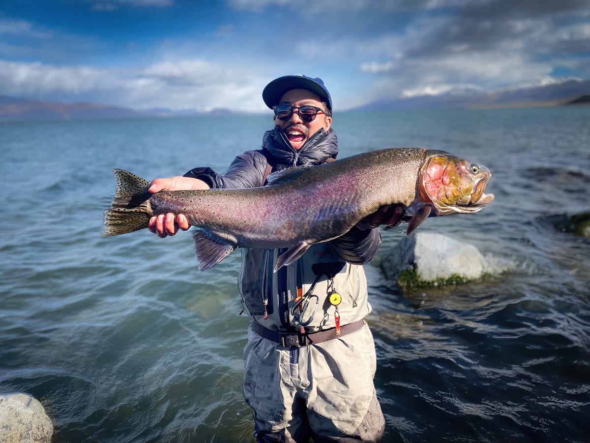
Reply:
[[490, 171], [448, 152], [389, 148], [335, 161], [332, 99], [321, 79], [263, 90], [275, 127], [221, 175], [195, 168], [149, 183], [114, 170], [104, 234], [194, 226], [201, 270], [242, 250], [238, 286], [252, 317], [244, 396], [257, 441], [379, 441], [375, 344], [362, 265], [378, 227], [469, 214], [494, 200]]

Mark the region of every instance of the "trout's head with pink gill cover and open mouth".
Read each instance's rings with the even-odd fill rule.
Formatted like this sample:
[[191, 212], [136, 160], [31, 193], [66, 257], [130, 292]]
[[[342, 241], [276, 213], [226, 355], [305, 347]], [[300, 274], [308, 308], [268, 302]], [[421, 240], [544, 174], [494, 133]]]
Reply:
[[494, 194], [484, 193], [490, 176], [484, 166], [435, 151], [422, 167], [420, 193], [437, 216], [475, 213], [494, 200]]

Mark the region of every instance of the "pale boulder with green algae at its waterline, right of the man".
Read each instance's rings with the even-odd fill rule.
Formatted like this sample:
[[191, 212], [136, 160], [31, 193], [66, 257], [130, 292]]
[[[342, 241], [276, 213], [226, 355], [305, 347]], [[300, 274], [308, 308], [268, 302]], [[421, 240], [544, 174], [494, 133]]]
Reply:
[[404, 237], [382, 259], [386, 278], [400, 286], [461, 284], [507, 271], [508, 263], [486, 257], [473, 245], [430, 232]]

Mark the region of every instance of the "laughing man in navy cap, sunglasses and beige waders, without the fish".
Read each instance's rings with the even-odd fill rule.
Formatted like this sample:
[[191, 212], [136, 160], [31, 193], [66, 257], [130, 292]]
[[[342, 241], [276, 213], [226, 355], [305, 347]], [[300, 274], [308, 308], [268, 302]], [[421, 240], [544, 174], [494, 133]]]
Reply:
[[[320, 165], [338, 153], [332, 99], [321, 79], [285, 76], [263, 100], [275, 127], [261, 149], [238, 155], [221, 175], [195, 168], [158, 178], [150, 192], [249, 188], [296, 165]], [[244, 349], [244, 396], [259, 442], [379, 441], [385, 421], [373, 386], [376, 357], [363, 318], [371, 312], [363, 263], [381, 245], [380, 224], [395, 226], [400, 207], [383, 207], [348, 233], [313, 245], [273, 273], [282, 250], [242, 249], [238, 285], [253, 324]], [[182, 214], [152, 217], [160, 237], [188, 229]]]

